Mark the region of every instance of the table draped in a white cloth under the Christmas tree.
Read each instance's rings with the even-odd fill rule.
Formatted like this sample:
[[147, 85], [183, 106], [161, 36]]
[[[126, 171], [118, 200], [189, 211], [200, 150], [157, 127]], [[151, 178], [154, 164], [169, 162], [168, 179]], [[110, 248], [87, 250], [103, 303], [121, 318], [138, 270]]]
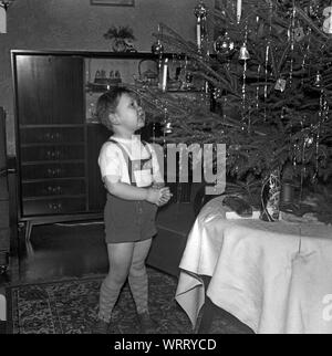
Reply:
[[179, 264], [193, 327], [207, 296], [255, 333], [332, 333], [332, 227], [227, 220], [222, 199], [201, 209]]

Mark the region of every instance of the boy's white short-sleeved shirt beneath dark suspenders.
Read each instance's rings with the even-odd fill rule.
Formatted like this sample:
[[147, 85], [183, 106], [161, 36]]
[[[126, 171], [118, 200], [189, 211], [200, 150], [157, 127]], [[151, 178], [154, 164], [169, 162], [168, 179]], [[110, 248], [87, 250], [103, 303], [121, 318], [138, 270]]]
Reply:
[[[152, 168], [134, 171], [135, 181], [137, 187], [147, 187], [151, 186], [153, 181], [164, 182], [164, 179], [159, 171], [159, 164], [155, 150], [152, 145], [148, 145], [148, 148], [152, 154], [144, 147], [139, 136], [133, 135], [132, 139], [118, 138], [111, 136], [110, 138], [118, 142], [122, 147], [126, 150], [132, 160], [146, 159], [152, 156]], [[121, 181], [131, 184], [127, 163], [124, 158], [122, 149], [112, 142], [106, 142], [100, 151], [98, 165], [101, 168], [102, 179], [104, 180], [105, 176], [111, 176], [112, 181]]]

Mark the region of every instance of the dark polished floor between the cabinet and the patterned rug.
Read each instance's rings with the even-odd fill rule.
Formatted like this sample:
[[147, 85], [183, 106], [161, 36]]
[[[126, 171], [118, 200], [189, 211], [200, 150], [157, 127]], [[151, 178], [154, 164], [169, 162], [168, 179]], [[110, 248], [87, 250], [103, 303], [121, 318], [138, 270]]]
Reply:
[[[104, 243], [103, 224], [39, 226], [31, 235], [27, 251], [21, 237], [18, 256], [10, 258], [7, 273], [0, 274], [0, 292], [9, 284], [33, 283], [103, 274], [108, 262]], [[6, 323], [0, 321], [0, 334]]]

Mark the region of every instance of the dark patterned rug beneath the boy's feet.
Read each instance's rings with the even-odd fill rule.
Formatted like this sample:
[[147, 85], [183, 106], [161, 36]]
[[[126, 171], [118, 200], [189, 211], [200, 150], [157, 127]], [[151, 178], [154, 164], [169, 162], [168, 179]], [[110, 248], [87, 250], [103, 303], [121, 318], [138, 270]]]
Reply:
[[[149, 310], [158, 334], [193, 334], [186, 313], [175, 302], [177, 280], [148, 269]], [[8, 287], [8, 318], [12, 334], [91, 334], [97, 314], [103, 276], [61, 280]], [[135, 304], [128, 284], [122, 290], [113, 311], [116, 334], [136, 334]], [[217, 317], [211, 333], [243, 333], [243, 327]]]

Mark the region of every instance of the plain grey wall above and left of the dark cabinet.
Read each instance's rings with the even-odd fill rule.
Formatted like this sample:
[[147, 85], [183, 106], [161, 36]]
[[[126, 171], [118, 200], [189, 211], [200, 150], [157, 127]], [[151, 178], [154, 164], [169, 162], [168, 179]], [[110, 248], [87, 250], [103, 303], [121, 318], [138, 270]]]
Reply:
[[[0, 34], [0, 106], [8, 113], [8, 153], [14, 153], [10, 50], [107, 51], [103, 33], [131, 25], [138, 51], [151, 51], [152, 33], [164, 22], [195, 41], [198, 0], [135, 0], [134, 8], [92, 6], [90, 0], [15, 0], [8, 9], [8, 33]], [[211, 8], [212, 0], [205, 3]]]

